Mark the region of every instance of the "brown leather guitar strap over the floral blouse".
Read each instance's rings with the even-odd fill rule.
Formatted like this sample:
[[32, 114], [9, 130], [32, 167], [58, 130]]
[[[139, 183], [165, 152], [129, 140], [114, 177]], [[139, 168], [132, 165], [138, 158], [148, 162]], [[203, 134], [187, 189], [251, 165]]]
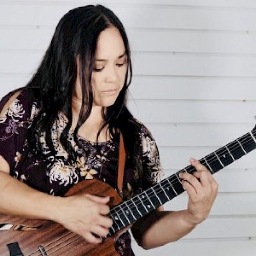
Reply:
[[120, 132], [120, 142], [119, 142], [119, 158], [118, 158], [118, 170], [117, 170], [117, 189], [121, 197], [123, 197], [123, 173], [125, 164], [125, 149], [123, 143], [123, 135]]

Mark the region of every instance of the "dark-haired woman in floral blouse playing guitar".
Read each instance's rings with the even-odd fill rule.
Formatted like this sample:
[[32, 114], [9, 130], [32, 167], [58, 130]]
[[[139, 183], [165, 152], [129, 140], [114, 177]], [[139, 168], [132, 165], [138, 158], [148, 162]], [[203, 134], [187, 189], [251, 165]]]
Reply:
[[[113, 12], [91, 5], [61, 18], [31, 81], [0, 104], [0, 212], [53, 220], [90, 243], [101, 242], [112, 226], [109, 198], [61, 196], [84, 179], [116, 188], [120, 132], [124, 200], [156, 184], [162, 173], [155, 140], [126, 108], [131, 77], [129, 42]], [[218, 185], [197, 160], [190, 162], [197, 172], [180, 176], [187, 209], [160, 206], [136, 222], [131, 231], [141, 247], [175, 241], [208, 216]], [[116, 249], [133, 255], [129, 232]]]

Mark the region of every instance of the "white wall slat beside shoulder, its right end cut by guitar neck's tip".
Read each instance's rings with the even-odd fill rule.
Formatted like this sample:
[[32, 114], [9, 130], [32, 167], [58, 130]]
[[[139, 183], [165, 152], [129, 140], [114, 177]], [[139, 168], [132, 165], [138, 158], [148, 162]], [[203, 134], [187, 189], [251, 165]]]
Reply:
[[252, 124], [148, 123], [158, 146], [216, 146], [216, 149], [251, 131]]

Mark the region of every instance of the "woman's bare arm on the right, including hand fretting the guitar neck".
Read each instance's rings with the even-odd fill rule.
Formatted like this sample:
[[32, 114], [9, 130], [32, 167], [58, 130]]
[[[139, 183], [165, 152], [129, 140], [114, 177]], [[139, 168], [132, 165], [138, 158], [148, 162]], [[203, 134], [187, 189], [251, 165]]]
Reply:
[[182, 173], [182, 185], [188, 194], [186, 210], [164, 211], [163, 206], [137, 221], [131, 231], [136, 242], [144, 249], [155, 248], [176, 241], [197, 224], [204, 221], [217, 196], [218, 184], [199, 161], [191, 158], [197, 169], [193, 175]]

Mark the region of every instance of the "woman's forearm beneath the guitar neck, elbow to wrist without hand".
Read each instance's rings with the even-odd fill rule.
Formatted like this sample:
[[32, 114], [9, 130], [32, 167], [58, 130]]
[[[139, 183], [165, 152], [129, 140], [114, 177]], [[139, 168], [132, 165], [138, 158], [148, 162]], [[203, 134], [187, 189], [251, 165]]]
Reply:
[[196, 227], [187, 210], [154, 211], [133, 227], [137, 243], [144, 249], [174, 242]]

